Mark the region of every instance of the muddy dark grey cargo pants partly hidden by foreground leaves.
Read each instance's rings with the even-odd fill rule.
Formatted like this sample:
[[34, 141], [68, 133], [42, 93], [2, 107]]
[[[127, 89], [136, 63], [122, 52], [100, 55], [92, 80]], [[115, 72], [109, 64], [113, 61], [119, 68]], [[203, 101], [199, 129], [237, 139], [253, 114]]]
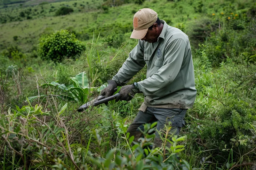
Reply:
[[[145, 112], [139, 111], [134, 121], [127, 129], [127, 132], [130, 133], [130, 137], [134, 136], [133, 141], [138, 142], [138, 139], [142, 136], [140, 129], [142, 131], [144, 130], [143, 124], [157, 121], [156, 129], [160, 132], [161, 129], [164, 129], [165, 124], [171, 122], [172, 129], [170, 132], [178, 136], [180, 128], [185, 125], [184, 117], [187, 110], [188, 109], [147, 107]], [[170, 145], [170, 143], [168, 143], [168, 145]], [[154, 147], [161, 146], [162, 140], [159, 133], [156, 131]]]

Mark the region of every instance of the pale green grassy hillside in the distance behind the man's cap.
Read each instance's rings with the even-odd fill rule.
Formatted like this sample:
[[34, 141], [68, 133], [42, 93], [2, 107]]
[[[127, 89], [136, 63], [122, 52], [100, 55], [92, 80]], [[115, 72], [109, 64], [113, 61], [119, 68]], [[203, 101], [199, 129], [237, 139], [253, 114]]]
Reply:
[[[31, 1], [27, 3], [30, 2]], [[139, 9], [146, 7], [154, 9], [158, 13], [160, 19], [164, 19], [169, 25], [178, 27], [181, 30], [186, 29], [186, 27], [189, 26], [189, 23], [194, 22], [196, 19], [204, 17], [201, 13], [194, 12], [195, 9], [192, 4], [197, 5], [198, 2], [192, 2], [190, 0], [182, 2], [154, 0], [152, 2], [146, 1], [143, 5], [125, 4], [119, 6], [118, 10], [117, 7], [110, 7], [108, 12], [96, 10], [97, 6], [100, 6], [100, 3], [102, 3], [100, 0], [77, 0], [28, 7], [13, 6], [1, 9], [1, 15], [10, 13], [9, 15], [13, 16], [19, 15], [20, 11], [31, 9], [32, 18], [25, 19], [23, 21], [0, 24], [0, 28], [2, 30], [0, 33], [0, 39], [2, 40], [2, 44], [0, 43], [0, 49], [11, 44], [15, 44], [21, 46], [24, 51], [29, 52], [33, 46], [37, 44], [39, 36], [42, 33], [67, 29], [68, 27], [73, 27], [77, 32], [86, 32], [89, 37], [92, 38], [93, 31], [96, 34], [100, 33], [100, 35], [104, 37], [108, 33], [111, 33], [111, 25], [127, 25], [130, 27], [130, 31], [124, 34], [124, 36], [126, 40], [129, 40], [130, 33], [132, 31], [132, 18], [134, 13]], [[222, 12], [221, 8], [218, 8], [216, 4], [223, 7], [229, 5], [229, 3], [226, 3], [225, 1], [212, 1], [206, 3], [203, 10], [206, 11], [208, 16], [212, 16], [212, 13]], [[74, 12], [66, 16], [55, 17], [54, 10], [57, 10], [63, 5], [72, 7]], [[53, 11], [50, 12], [49, 10], [52, 9]], [[41, 11], [43, 12], [41, 13]], [[39, 14], [36, 15], [38, 12]], [[13, 36], [18, 36], [18, 41], [13, 41]], [[133, 42], [134, 40], [131, 41]]]

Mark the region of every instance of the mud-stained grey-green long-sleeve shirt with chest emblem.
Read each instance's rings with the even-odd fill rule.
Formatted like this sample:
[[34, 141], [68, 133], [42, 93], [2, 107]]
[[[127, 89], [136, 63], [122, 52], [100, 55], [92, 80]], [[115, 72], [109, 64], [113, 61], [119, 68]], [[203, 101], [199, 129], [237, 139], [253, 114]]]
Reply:
[[112, 78], [125, 85], [147, 64], [147, 78], [138, 82], [149, 107], [190, 108], [196, 98], [194, 67], [188, 36], [180, 29], [168, 26], [157, 42], [139, 40], [123, 66]]

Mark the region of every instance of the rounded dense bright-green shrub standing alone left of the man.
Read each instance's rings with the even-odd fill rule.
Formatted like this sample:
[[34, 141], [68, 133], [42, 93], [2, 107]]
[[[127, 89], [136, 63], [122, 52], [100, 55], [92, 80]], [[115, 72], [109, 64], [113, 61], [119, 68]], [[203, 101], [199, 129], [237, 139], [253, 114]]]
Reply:
[[74, 57], [84, 50], [84, 44], [67, 30], [60, 30], [39, 39], [38, 55], [43, 60], [61, 62], [64, 56]]

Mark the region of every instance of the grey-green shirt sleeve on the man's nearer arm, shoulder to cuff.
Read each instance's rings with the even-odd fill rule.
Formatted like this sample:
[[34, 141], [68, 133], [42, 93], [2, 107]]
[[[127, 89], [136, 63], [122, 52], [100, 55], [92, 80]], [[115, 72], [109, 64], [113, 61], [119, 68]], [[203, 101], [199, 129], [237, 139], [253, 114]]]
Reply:
[[154, 94], [159, 89], [172, 83], [178, 75], [185, 54], [186, 44], [181, 38], [172, 41], [165, 49], [163, 66], [151, 77], [138, 82], [144, 96]]

